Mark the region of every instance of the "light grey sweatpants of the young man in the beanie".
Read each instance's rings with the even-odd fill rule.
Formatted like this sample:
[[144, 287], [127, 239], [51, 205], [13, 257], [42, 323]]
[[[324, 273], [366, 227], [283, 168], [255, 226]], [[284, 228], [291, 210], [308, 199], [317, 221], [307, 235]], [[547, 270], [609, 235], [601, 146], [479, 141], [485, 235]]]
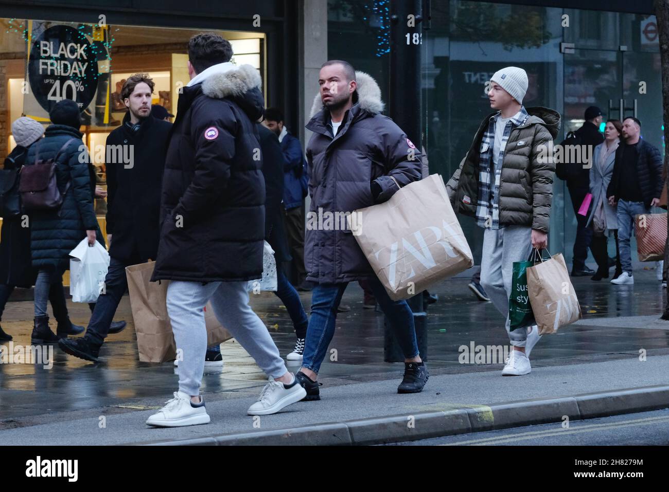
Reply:
[[508, 298], [514, 261], [525, 261], [532, 252], [532, 228], [508, 225], [486, 229], [481, 253], [481, 285], [497, 310], [506, 316], [506, 333], [511, 345], [524, 347], [527, 330], [509, 330]]

